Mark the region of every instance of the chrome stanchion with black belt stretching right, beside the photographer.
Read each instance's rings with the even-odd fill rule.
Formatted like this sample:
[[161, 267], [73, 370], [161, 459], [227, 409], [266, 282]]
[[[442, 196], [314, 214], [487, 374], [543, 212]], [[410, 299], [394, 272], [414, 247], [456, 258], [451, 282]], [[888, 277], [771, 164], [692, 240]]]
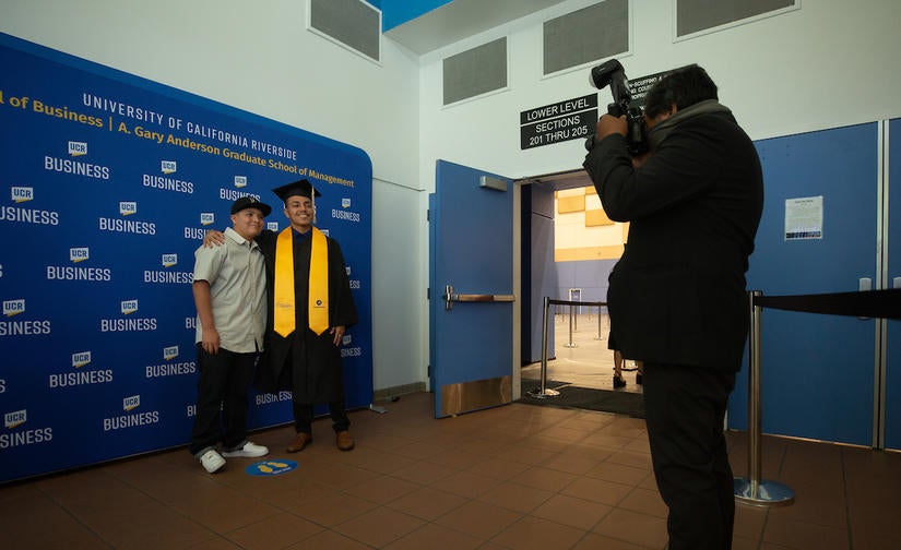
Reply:
[[760, 479], [760, 312], [772, 308], [807, 313], [858, 318], [901, 319], [901, 289], [865, 290], [795, 296], [763, 296], [748, 292], [750, 332], [748, 334], [748, 477], [735, 478], [735, 499], [757, 506], [779, 506], [794, 502], [791, 488]]

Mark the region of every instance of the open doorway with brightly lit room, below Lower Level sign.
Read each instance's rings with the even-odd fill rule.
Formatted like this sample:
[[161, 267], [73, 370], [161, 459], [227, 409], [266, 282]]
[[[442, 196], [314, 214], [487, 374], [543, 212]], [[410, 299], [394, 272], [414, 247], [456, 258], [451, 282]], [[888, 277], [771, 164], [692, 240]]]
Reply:
[[[604, 215], [583, 169], [517, 181], [522, 186], [522, 395], [540, 385], [544, 297], [573, 302], [606, 301], [607, 277], [623, 253], [627, 224]], [[581, 228], [581, 229], [580, 229]], [[605, 307], [554, 306], [548, 311], [548, 387], [641, 393], [635, 361], [626, 358], [614, 387]]]

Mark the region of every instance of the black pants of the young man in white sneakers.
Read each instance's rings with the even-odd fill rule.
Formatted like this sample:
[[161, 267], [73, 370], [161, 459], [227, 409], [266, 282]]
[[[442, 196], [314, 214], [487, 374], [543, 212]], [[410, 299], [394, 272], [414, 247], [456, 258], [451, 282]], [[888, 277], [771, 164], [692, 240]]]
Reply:
[[222, 441], [234, 447], [247, 439], [247, 388], [253, 378], [258, 354], [236, 354], [220, 348], [211, 355], [197, 345], [200, 380], [197, 411], [188, 450], [197, 455]]

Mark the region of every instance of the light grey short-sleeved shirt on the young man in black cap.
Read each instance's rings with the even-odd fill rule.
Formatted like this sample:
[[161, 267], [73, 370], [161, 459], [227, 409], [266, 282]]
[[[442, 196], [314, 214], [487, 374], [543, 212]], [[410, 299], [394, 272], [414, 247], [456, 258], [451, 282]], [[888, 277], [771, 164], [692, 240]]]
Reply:
[[[198, 280], [210, 284], [220, 346], [237, 354], [262, 350], [266, 290], [260, 246], [227, 228], [225, 244], [201, 246], [194, 252], [194, 282]], [[200, 343], [202, 335], [198, 316], [194, 340]]]

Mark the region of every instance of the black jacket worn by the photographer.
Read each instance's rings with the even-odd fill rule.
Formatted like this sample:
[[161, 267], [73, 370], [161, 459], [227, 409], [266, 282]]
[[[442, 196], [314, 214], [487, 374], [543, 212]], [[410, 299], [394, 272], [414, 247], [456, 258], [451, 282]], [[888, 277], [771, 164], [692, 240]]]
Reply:
[[613, 134], [585, 157], [607, 216], [629, 222], [610, 273], [610, 340], [624, 357], [737, 371], [745, 272], [763, 207], [760, 160], [728, 112], [681, 121], [638, 169]]

